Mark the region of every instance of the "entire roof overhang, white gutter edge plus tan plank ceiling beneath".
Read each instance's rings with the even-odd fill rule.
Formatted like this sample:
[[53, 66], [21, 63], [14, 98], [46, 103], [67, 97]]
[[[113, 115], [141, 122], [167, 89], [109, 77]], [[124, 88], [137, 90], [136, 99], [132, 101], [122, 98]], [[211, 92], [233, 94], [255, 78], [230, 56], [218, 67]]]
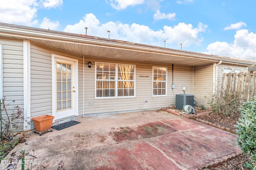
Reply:
[[6, 23], [0, 23], [0, 37], [29, 40], [33, 43], [67, 51], [81, 57], [97, 57], [135, 63], [184, 64], [189, 66], [212, 64], [219, 61], [243, 65], [251, 65], [252, 63], [228, 57]]

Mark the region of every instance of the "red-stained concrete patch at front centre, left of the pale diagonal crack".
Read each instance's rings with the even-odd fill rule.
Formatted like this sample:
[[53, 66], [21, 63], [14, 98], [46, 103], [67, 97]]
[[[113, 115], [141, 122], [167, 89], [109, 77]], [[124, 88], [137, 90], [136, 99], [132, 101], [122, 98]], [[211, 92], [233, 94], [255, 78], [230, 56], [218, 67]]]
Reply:
[[102, 160], [107, 160], [109, 166], [96, 166], [94, 170], [116, 169], [116, 170], [178, 170], [182, 168], [175, 161], [163, 156], [156, 148], [152, 147], [144, 140], [122, 143], [113, 150], [100, 156]]

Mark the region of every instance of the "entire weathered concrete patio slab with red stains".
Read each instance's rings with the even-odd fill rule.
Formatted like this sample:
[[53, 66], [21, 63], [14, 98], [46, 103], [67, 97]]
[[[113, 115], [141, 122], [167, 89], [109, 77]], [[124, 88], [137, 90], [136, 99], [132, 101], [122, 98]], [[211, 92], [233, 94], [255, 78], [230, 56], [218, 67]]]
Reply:
[[[30, 133], [11, 152], [34, 154], [32, 169], [196, 170], [241, 154], [237, 136], [167, 111], [139, 111], [76, 119], [60, 131]], [[6, 168], [4, 163], [0, 169]], [[31, 157], [26, 156], [26, 160]], [[21, 166], [18, 164], [18, 166]], [[44, 167], [44, 168], [43, 168]]]

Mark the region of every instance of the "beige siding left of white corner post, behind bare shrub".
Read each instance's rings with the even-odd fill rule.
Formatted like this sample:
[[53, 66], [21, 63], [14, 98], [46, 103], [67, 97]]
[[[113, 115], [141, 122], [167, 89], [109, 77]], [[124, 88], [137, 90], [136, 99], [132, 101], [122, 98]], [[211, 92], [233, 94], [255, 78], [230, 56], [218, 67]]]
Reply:
[[[6, 96], [5, 104], [9, 104], [6, 108], [10, 109], [9, 114], [12, 113], [12, 109], [15, 106], [19, 106], [20, 109], [24, 108], [23, 99], [23, 41], [17, 41], [12, 39], [0, 39], [2, 45], [2, 96]], [[2, 98], [1, 96], [1, 98]], [[12, 102], [15, 100], [15, 102]], [[2, 117], [6, 116], [2, 112]], [[17, 120], [18, 127], [14, 128], [15, 132], [22, 131], [22, 120]]]

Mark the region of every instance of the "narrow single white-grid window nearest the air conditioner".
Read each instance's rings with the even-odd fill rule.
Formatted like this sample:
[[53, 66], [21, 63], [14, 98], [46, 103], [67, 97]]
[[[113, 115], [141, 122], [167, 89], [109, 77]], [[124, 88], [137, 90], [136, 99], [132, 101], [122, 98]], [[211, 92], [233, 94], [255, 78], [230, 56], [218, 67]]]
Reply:
[[166, 87], [167, 68], [153, 66], [153, 96], [165, 96]]

